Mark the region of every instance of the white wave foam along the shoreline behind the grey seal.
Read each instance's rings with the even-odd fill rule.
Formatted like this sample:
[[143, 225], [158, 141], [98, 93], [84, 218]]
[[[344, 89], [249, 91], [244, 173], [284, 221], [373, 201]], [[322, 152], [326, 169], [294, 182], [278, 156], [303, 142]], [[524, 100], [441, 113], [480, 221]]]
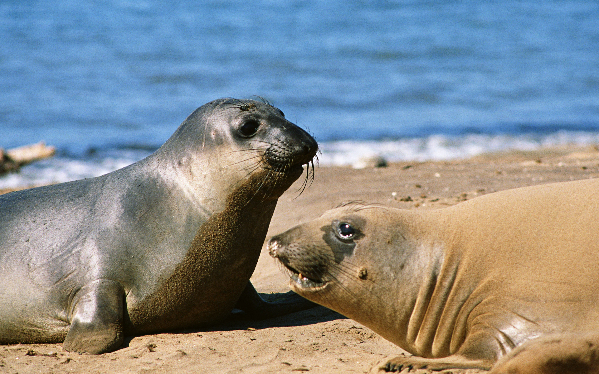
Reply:
[[[537, 150], [566, 144], [599, 144], [599, 132], [559, 131], [549, 135], [431, 135], [385, 141], [320, 142], [321, 166], [359, 165], [364, 159], [382, 156], [388, 161], [450, 160], [477, 154]], [[98, 177], [123, 168], [149, 154], [139, 150], [110, 150], [91, 158], [56, 156], [25, 166], [18, 173], [0, 177], [0, 188], [61, 183]]]

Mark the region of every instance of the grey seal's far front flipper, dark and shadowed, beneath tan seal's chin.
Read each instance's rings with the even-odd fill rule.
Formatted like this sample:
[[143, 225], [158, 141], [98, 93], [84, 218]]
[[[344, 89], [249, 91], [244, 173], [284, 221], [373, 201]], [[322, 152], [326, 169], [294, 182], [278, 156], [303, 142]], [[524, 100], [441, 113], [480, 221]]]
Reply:
[[266, 301], [262, 299], [252, 282], [249, 281], [245, 290], [241, 293], [241, 297], [237, 300], [237, 304], [235, 304], [235, 308], [241, 309], [250, 317], [258, 319], [279, 317], [280, 315], [314, 308], [314, 306], [318, 306], [318, 304], [304, 299], [294, 291], [273, 294], [271, 300]]

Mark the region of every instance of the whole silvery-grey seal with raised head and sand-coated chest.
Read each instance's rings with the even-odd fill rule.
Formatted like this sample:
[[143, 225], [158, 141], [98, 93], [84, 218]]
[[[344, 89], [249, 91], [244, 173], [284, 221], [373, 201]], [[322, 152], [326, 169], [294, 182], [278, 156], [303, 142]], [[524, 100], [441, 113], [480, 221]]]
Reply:
[[220, 99], [126, 168], [0, 196], [0, 343], [97, 354], [222, 321], [258, 296], [277, 198], [316, 150], [277, 108]]

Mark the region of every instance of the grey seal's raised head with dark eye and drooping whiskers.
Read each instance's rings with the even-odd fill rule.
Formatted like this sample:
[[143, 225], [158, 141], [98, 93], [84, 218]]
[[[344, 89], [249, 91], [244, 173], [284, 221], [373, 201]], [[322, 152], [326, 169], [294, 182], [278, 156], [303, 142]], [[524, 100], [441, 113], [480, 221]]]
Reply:
[[[186, 144], [173, 147], [172, 142]], [[268, 200], [299, 178], [318, 145], [268, 102], [226, 98], [192, 112], [161, 149], [190, 186], [216, 183], [222, 195], [223, 189], [250, 184], [253, 194]], [[313, 170], [308, 167], [306, 183]], [[208, 174], [213, 181], [205, 180]]]

